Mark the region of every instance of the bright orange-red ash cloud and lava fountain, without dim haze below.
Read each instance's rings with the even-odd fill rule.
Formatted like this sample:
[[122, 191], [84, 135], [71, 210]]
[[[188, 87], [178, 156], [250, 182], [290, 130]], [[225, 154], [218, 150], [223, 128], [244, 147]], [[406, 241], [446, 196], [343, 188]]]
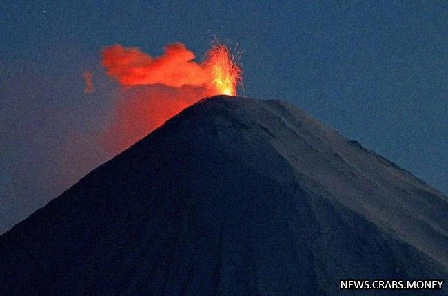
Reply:
[[201, 63], [183, 43], [164, 47], [164, 54], [153, 58], [138, 48], [112, 45], [103, 50], [107, 74], [124, 87], [161, 84], [168, 87], [205, 87], [209, 96], [236, 95], [241, 69], [229, 49], [216, 43]]

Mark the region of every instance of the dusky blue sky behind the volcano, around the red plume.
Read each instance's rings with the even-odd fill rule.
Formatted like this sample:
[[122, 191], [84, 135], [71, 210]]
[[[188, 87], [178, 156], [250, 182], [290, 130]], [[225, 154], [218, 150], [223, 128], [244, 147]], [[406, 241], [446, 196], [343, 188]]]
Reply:
[[[448, 192], [447, 1], [0, 8], [0, 233], [111, 157], [94, 143], [117, 91], [100, 65], [114, 43], [159, 55], [180, 41], [198, 59], [214, 34], [239, 43], [246, 96], [294, 103]], [[84, 92], [85, 71], [94, 92]]]

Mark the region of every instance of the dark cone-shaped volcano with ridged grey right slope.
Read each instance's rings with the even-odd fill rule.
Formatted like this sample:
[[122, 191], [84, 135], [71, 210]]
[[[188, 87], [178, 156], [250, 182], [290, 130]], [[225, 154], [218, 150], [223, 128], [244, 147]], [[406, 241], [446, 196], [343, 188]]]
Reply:
[[339, 282], [447, 279], [447, 213], [289, 103], [215, 96], [2, 235], [0, 294], [404, 295]]

